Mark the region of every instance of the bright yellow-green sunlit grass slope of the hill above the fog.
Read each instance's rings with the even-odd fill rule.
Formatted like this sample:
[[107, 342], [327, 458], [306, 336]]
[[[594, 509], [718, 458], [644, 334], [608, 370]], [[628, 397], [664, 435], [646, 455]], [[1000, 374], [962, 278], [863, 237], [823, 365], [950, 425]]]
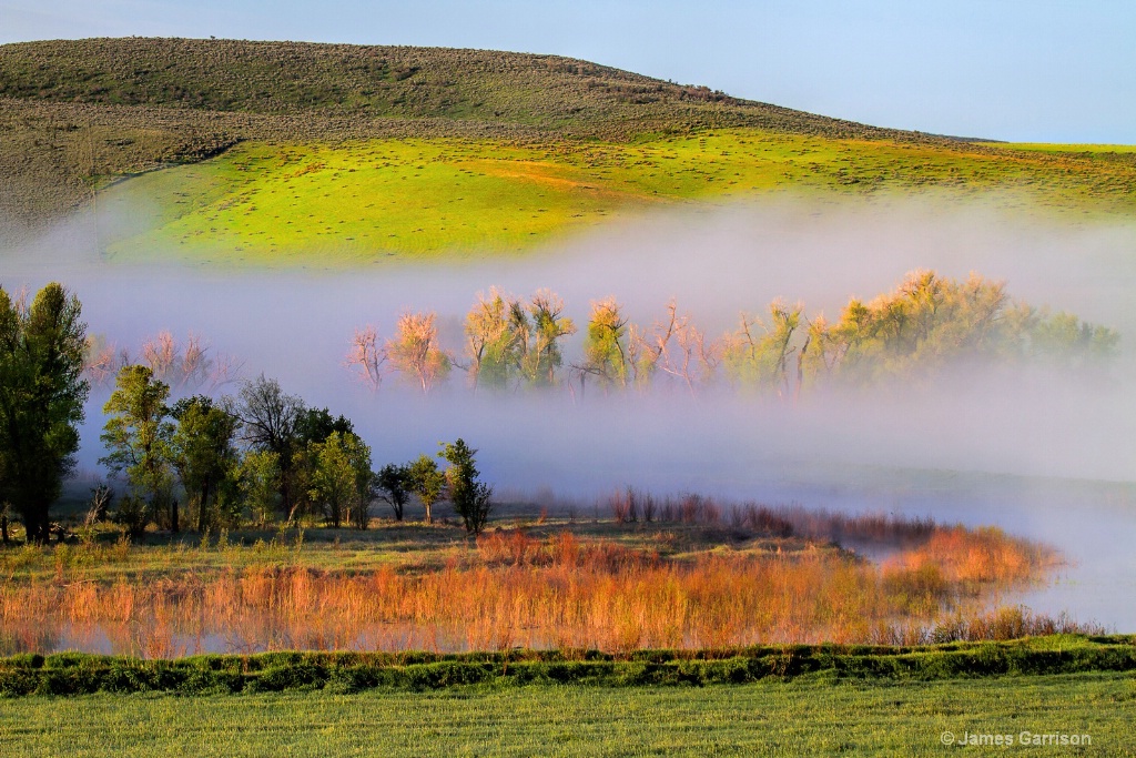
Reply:
[[1128, 158], [759, 130], [543, 145], [245, 142], [115, 184], [98, 207], [106, 230], [116, 218], [144, 218], [130, 233], [106, 232], [114, 259], [336, 266], [516, 256], [615, 217], [777, 193], [934, 193], [1076, 218], [1129, 215], [1136, 161]]

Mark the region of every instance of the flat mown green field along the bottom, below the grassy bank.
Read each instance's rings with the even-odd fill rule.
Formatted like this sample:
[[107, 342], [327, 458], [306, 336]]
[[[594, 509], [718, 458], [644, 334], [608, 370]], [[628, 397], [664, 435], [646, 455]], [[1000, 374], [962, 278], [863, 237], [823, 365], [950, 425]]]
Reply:
[[943, 756], [943, 733], [1087, 734], [1088, 747], [967, 755], [1136, 755], [1130, 675], [708, 688], [22, 698], [11, 756]]

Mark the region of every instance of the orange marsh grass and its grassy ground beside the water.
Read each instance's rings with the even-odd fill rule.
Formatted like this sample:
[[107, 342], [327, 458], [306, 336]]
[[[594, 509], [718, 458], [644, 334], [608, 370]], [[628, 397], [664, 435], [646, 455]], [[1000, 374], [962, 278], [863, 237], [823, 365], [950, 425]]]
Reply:
[[[376, 524], [344, 541], [281, 532], [9, 549], [0, 552], [0, 642], [7, 652], [143, 657], [917, 642], [944, 620], [961, 634], [961, 620], [999, 591], [1039, 580], [1058, 560], [997, 530], [693, 495], [659, 499], [648, 523], [644, 495], [623, 493], [612, 510], [620, 498], [636, 501], [641, 520], [545, 515], [476, 541], [445, 525]], [[872, 563], [832, 534], [887, 557]]]

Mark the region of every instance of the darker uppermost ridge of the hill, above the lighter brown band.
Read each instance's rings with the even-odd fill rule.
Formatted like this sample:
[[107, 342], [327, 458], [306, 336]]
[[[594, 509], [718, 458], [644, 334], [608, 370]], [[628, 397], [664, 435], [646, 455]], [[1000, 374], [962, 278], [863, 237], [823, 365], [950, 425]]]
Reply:
[[751, 126], [895, 135], [557, 56], [231, 40], [0, 45], [0, 97], [351, 119], [518, 124], [576, 136]]

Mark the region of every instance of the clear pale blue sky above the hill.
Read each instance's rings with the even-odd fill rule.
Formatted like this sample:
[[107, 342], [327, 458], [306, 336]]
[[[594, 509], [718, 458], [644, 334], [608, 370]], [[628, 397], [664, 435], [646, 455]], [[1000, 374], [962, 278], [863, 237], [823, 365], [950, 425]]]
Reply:
[[131, 34], [548, 52], [882, 126], [1136, 143], [1128, 0], [0, 0], [0, 42]]

